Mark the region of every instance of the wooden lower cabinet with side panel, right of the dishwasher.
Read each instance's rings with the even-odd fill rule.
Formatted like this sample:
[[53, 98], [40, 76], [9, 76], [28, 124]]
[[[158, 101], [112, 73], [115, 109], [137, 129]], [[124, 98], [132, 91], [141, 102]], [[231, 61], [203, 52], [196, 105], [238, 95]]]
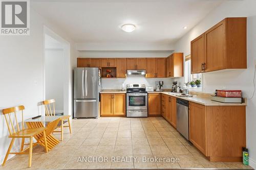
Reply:
[[245, 106], [189, 102], [189, 140], [212, 162], [242, 161], [246, 147]]

